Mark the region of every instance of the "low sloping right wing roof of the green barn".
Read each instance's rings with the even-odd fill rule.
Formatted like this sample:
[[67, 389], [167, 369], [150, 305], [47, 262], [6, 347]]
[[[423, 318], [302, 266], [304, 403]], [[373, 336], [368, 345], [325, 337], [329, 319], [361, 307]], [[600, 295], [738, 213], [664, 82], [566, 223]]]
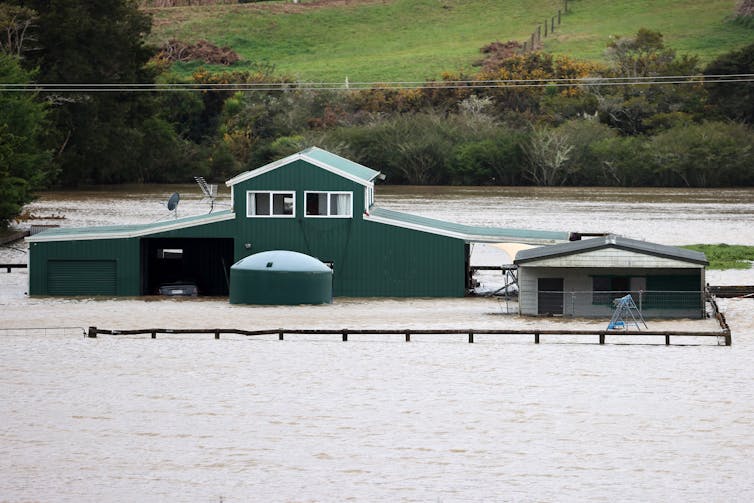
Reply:
[[569, 237], [568, 232], [503, 229], [456, 224], [374, 206], [369, 210], [368, 215], [364, 215], [364, 220], [463, 239], [469, 243], [500, 243], [506, 241], [541, 245], [568, 241]]

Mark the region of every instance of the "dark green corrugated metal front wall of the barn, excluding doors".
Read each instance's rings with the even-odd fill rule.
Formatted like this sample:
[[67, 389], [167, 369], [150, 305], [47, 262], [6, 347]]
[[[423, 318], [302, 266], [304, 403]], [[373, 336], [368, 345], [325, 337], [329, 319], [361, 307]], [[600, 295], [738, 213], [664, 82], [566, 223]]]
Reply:
[[[235, 220], [143, 238], [32, 243], [30, 294], [50, 293], [50, 261], [112, 260], [117, 269], [116, 294], [141, 295], [150, 288], [142, 278], [141, 240], [159, 238], [233, 238], [234, 262], [269, 250], [305, 253], [333, 263], [336, 296], [461, 297], [466, 293], [464, 241], [365, 222], [365, 187], [359, 183], [296, 161], [233, 188]], [[295, 217], [248, 218], [249, 190], [295, 191]], [[352, 192], [353, 216], [305, 218], [305, 191]]]

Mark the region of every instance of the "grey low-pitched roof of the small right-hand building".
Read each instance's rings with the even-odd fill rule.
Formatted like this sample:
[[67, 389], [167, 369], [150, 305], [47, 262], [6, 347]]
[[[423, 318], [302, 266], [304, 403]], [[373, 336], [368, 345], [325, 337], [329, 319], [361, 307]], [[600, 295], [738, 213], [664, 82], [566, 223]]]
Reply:
[[707, 257], [702, 252], [687, 250], [685, 248], [678, 248], [675, 246], [648, 243], [646, 241], [624, 238], [621, 236], [616, 236], [614, 234], [594, 239], [584, 239], [581, 241], [571, 241], [568, 243], [562, 243], [552, 246], [542, 246], [539, 248], [531, 248], [529, 250], [521, 250], [516, 254], [516, 259], [513, 261], [513, 263], [522, 264], [544, 258], [575, 255], [577, 253], [600, 250], [603, 248], [628, 250], [645, 255], [654, 255], [656, 257], [680, 260], [682, 262], [692, 262], [695, 264], [709, 264], [709, 262], [707, 262]]

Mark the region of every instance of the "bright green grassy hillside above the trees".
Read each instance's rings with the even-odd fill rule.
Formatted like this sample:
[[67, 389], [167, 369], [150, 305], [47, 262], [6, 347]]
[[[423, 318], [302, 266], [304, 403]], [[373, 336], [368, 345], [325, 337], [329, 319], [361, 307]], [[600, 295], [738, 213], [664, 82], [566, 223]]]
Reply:
[[[611, 35], [661, 31], [679, 52], [709, 60], [754, 41], [754, 30], [725, 23], [735, 0], [570, 0], [572, 13], [545, 49], [600, 60]], [[473, 71], [479, 48], [525, 40], [562, 0], [326, 0], [154, 9], [152, 42], [200, 38], [229, 45], [250, 68], [267, 61], [300, 80], [426, 80]], [[198, 64], [176, 65], [188, 73]]]

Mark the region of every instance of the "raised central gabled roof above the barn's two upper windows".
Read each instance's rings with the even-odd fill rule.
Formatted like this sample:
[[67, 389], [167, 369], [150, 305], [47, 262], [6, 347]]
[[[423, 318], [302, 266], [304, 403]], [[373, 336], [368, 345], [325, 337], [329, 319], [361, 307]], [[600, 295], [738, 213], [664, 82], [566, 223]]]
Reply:
[[367, 168], [366, 166], [362, 166], [359, 163], [349, 161], [348, 159], [340, 157], [339, 155], [335, 155], [332, 152], [328, 152], [327, 150], [322, 150], [321, 148], [317, 147], [310, 147], [296, 154], [289, 155], [288, 157], [262, 166], [261, 168], [241, 173], [240, 175], [237, 175], [225, 182], [225, 185], [231, 187], [237, 183], [249, 180], [250, 178], [254, 178], [265, 173], [269, 173], [270, 171], [273, 171], [295, 161], [306, 161], [309, 164], [313, 164], [314, 166], [330, 171], [331, 173], [342, 176], [343, 178], [347, 178], [352, 182], [356, 182], [365, 186], [372, 185], [374, 179], [377, 178], [380, 174], [379, 171], [375, 171], [373, 169]]

